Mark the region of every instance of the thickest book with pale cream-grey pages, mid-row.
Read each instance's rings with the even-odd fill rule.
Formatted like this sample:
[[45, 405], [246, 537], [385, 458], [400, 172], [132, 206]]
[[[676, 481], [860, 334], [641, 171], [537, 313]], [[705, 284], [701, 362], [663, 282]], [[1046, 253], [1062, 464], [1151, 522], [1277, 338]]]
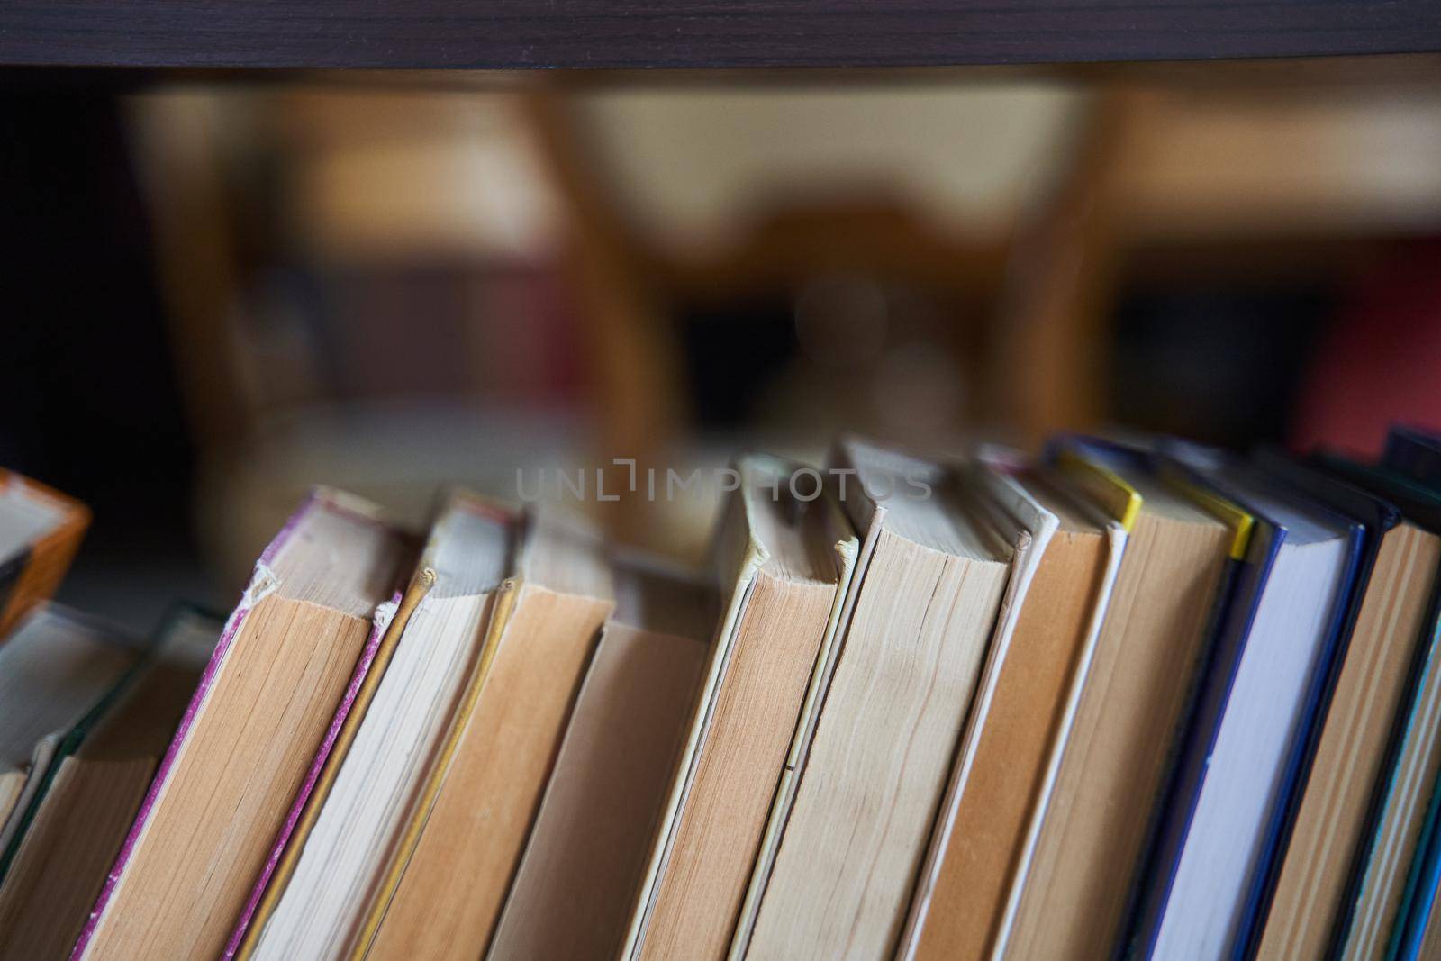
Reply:
[[[863, 546], [748, 957], [893, 951], [1010, 576], [1013, 535], [940, 464], [859, 441], [831, 473]], [[748, 937], [746, 937], [748, 935]]]

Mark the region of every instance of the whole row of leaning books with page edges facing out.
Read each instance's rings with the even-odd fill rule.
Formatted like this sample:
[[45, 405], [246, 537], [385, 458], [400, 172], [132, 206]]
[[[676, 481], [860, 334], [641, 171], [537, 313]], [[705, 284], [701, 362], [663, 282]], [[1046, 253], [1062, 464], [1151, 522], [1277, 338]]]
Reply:
[[1441, 957], [1441, 439], [733, 475], [700, 572], [317, 490], [223, 621], [32, 607], [0, 957]]

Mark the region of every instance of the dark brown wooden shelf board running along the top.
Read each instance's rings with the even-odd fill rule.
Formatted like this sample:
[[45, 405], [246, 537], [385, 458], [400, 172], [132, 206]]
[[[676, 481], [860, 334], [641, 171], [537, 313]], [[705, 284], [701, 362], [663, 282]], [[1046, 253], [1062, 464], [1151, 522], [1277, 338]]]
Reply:
[[13, 0], [0, 65], [751, 68], [1441, 50], [1435, 0]]

